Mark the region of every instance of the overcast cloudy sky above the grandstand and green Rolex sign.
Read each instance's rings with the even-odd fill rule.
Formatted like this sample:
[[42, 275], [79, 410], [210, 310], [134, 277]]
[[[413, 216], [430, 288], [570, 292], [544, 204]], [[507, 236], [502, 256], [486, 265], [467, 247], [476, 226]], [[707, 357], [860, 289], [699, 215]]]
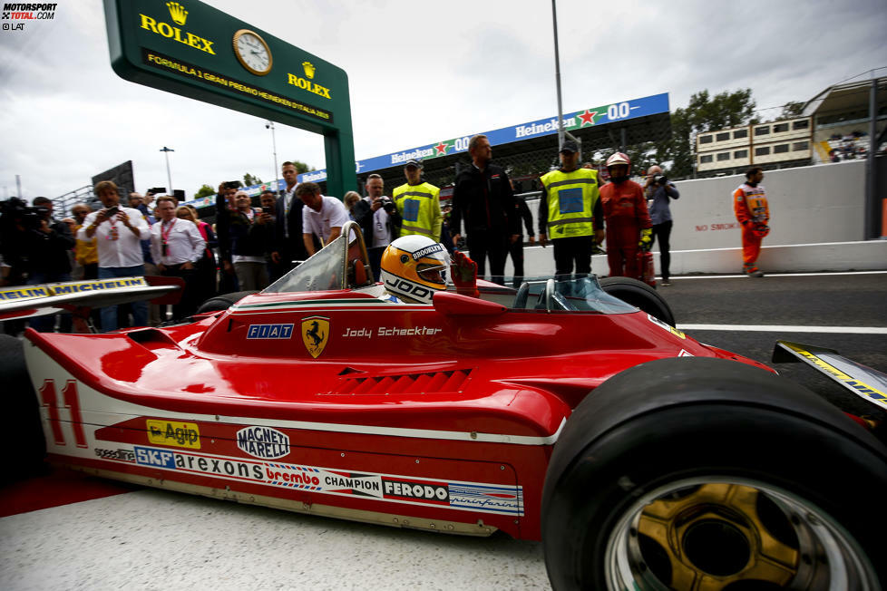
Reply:
[[[557, 112], [550, 2], [208, 3], [346, 70], [358, 160]], [[565, 112], [746, 87], [777, 107], [887, 66], [884, 0], [559, 0], [558, 20]], [[163, 146], [189, 198], [245, 172], [268, 180], [264, 123], [119, 78], [98, 0], [0, 30], [0, 199], [16, 174], [24, 197], [54, 198], [125, 160], [137, 189], [166, 186]], [[326, 167], [307, 131], [278, 124], [277, 148], [278, 162]]]

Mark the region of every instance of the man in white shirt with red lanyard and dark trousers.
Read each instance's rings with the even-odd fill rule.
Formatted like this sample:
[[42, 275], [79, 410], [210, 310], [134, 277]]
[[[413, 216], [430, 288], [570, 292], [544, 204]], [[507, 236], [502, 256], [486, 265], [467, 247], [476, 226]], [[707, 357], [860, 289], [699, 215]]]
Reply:
[[151, 226], [151, 258], [162, 276], [184, 279], [179, 303], [172, 306], [172, 315], [184, 318], [194, 314], [199, 304], [194, 300], [194, 296], [200, 293], [194, 281], [206, 240], [200, 236], [197, 224], [190, 219], [176, 218], [177, 205], [176, 198], [169, 195], [157, 199], [154, 211], [158, 221]]

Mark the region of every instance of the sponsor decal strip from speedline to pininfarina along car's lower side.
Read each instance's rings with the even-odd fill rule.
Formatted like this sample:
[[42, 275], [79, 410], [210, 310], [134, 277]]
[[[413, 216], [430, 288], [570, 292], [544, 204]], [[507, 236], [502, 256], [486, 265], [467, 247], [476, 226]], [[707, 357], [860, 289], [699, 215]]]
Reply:
[[[300, 489], [323, 495], [363, 497], [389, 503], [480, 513], [514, 516], [524, 514], [523, 487], [516, 485], [319, 468], [138, 445], [133, 448], [133, 453], [136, 463], [141, 466], [239, 480], [279, 489]], [[129, 458], [126, 450], [102, 455], [103, 459], [112, 461], [127, 461]], [[174, 479], [172, 476], [170, 478]]]

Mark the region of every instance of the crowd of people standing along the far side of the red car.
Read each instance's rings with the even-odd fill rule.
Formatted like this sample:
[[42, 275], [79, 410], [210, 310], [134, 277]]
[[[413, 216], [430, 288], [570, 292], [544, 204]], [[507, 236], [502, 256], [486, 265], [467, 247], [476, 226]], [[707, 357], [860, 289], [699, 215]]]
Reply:
[[[360, 228], [376, 277], [392, 241], [419, 235], [440, 242], [451, 254], [469, 250], [478, 276], [489, 271], [490, 279], [500, 284], [506, 259], [512, 257], [513, 286], [518, 287], [524, 275], [525, 228], [531, 245], [551, 244], [557, 276], [589, 274], [591, 256], [603, 252], [606, 237], [610, 275], [643, 279], [638, 253], [648, 252], [658, 239], [662, 285], [668, 286], [668, 202], [679, 195], [658, 167], [649, 170], [641, 187], [629, 180], [629, 157], [616, 152], [607, 160], [605, 183], [589, 163], [580, 167], [576, 142], [564, 141], [560, 168], [538, 179], [541, 199], [534, 233], [531, 210], [515, 194], [507, 171], [493, 162], [487, 137], [474, 136], [468, 155], [471, 161], [457, 167], [452, 200], [443, 208], [441, 190], [424, 178], [421, 160], [405, 163], [405, 182], [390, 197], [384, 179], [370, 174], [364, 195], [349, 191], [341, 200], [323, 195], [317, 183], [297, 182], [296, 166], [284, 162], [282, 188], [264, 190], [258, 203], [239, 181], [219, 183], [214, 224], [175, 197], [151, 192], [155, 189], [130, 193], [124, 205], [122, 191], [107, 180], [94, 187], [101, 207], [77, 203], [72, 217], [61, 220], [54, 217], [51, 199], [38, 197], [30, 206], [9, 199], [0, 215], [0, 286], [178, 277], [184, 287], [171, 311], [135, 302], [107, 305], [93, 315], [103, 332], [159, 325], [170, 316], [193, 315], [219, 293], [268, 287], [340, 236], [348, 220]], [[50, 331], [55, 322], [44, 316], [29, 324]], [[70, 321], [62, 316], [58, 327], [67, 330]]]

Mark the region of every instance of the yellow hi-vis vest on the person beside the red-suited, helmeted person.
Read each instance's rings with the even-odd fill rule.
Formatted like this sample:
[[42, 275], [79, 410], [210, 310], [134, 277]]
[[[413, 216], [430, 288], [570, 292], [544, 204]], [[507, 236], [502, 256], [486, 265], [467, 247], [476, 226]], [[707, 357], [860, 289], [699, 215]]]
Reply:
[[552, 170], [541, 182], [548, 191], [548, 237], [594, 236], [592, 212], [600, 199], [598, 171]]

